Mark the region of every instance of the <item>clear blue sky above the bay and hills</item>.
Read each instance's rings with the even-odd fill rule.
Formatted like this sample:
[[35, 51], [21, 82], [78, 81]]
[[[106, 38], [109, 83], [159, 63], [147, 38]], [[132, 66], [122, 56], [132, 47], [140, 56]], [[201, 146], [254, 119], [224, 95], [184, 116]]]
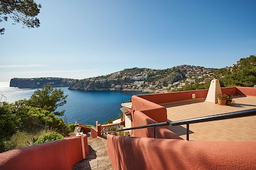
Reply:
[[0, 81], [83, 79], [256, 55], [256, 1], [36, 0], [40, 27], [1, 22]]

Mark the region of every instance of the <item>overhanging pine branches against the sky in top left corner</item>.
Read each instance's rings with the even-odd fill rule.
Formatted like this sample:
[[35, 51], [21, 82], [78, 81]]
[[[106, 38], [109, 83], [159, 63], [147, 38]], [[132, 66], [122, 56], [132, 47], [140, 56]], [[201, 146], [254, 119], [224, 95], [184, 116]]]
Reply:
[[[36, 4], [33, 0], [0, 0], [0, 22], [12, 18], [15, 23], [34, 28], [39, 27], [39, 19], [36, 15], [40, 13], [41, 4]], [[0, 34], [4, 34], [4, 28], [0, 29]]]

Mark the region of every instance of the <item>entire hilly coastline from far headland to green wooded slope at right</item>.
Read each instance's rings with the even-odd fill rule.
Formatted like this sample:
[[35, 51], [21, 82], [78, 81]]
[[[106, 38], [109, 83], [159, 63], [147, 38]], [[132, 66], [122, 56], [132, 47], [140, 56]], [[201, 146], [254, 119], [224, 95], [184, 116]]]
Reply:
[[83, 80], [67, 78], [13, 78], [11, 87], [40, 88], [44, 83], [52, 87], [68, 86], [70, 90], [132, 90], [143, 92], [170, 92], [209, 88], [209, 81], [217, 78], [221, 87], [256, 84], [256, 56], [240, 59], [230, 67], [221, 69], [182, 65], [168, 69], [134, 67], [116, 73]]

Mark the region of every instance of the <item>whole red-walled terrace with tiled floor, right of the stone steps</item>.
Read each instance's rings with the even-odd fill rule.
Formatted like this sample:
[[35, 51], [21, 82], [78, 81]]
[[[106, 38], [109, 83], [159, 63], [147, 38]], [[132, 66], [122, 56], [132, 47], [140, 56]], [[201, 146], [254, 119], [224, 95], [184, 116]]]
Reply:
[[243, 110], [253, 116], [190, 124], [189, 141], [186, 125], [157, 127], [157, 139], [154, 127], [133, 130], [136, 138], [108, 135], [113, 169], [256, 169], [256, 88], [219, 89], [234, 106], [205, 102], [210, 90], [132, 96], [132, 127]]

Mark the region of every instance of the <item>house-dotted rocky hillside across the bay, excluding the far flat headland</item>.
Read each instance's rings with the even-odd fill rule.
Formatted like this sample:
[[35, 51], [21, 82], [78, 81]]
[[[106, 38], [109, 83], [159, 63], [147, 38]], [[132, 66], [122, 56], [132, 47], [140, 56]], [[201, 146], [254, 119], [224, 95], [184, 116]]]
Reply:
[[169, 69], [148, 69], [134, 67], [106, 76], [74, 80], [68, 89], [72, 90], [139, 90], [157, 92], [167, 89], [173, 83], [195, 82], [195, 79], [211, 78], [215, 69], [201, 66], [182, 65]]

